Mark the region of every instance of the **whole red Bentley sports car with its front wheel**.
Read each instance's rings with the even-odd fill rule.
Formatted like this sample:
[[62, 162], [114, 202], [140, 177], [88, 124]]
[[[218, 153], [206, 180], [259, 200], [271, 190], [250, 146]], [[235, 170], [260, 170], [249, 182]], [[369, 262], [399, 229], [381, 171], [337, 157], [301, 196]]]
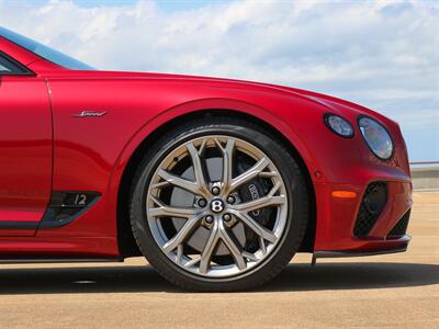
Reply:
[[0, 114], [3, 263], [144, 256], [181, 287], [236, 291], [296, 252], [409, 241], [399, 127], [347, 101], [99, 71], [0, 29]]

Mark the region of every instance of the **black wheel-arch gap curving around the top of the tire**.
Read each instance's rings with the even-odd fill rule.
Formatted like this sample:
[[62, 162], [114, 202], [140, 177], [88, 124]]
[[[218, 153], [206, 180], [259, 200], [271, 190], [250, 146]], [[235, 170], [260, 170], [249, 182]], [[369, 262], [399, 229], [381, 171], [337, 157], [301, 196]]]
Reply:
[[303, 158], [303, 155], [297, 150], [296, 146], [293, 145], [293, 143], [289, 138], [285, 137], [283, 133], [281, 133], [272, 124], [269, 124], [266, 120], [262, 120], [254, 114], [239, 111], [236, 109], [211, 107], [211, 109], [199, 109], [191, 112], [187, 112], [184, 114], [180, 114], [178, 116], [175, 116], [173, 118], [162, 122], [160, 125], [156, 126], [155, 129], [153, 129], [149, 134], [144, 136], [140, 143], [138, 143], [138, 145], [134, 148], [134, 151], [132, 151], [131, 156], [127, 159], [126, 166], [123, 169], [123, 174], [117, 191], [116, 224], [117, 224], [117, 243], [121, 256], [122, 257], [140, 256], [140, 252], [137, 248], [130, 225], [128, 202], [130, 202], [130, 191], [135, 175], [135, 171], [143, 159], [143, 155], [148, 149], [149, 145], [155, 143], [155, 140], [160, 138], [170, 128], [175, 127], [178, 124], [183, 124], [194, 118], [200, 118], [201, 116], [211, 116], [211, 117], [230, 116], [250, 121], [259, 126], [262, 126], [264, 129], [269, 131], [277, 139], [279, 139], [288, 147], [288, 149], [291, 151], [291, 155], [297, 161], [302, 172], [305, 174], [305, 180], [309, 196], [309, 222], [306, 228], [305, 237], [303, 239], [302, 246], [299, 251], [312, 252], [314, 250], [314, 242], [316, 236], [316, 201], [315, 201], [316, 198], [315, 198], [314, 184], [311, 175], [311, 172], [313, 171], [309, 170], [308, 166], [306, 164]]

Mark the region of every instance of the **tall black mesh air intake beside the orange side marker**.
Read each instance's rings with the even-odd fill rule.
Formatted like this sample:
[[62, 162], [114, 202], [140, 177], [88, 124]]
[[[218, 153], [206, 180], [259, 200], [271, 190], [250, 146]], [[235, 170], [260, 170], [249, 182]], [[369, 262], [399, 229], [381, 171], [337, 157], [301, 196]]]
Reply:
[[364, 238], [369, 235], [387, 203], [387, 194], [385, 182], [373, 182], [368, 185], [353, 227], [356, 237]]

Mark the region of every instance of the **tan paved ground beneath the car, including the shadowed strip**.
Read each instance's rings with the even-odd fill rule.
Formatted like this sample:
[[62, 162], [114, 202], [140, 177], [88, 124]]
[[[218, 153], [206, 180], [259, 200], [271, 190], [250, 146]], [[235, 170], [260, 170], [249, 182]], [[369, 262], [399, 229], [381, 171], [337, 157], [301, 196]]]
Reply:
[[144, 259], [122, 264], [2, 265], [0, 327], [439, 328], [439, 193], [415, 193], [406, 253], [300, 254], [250, 293], [189, 294]]

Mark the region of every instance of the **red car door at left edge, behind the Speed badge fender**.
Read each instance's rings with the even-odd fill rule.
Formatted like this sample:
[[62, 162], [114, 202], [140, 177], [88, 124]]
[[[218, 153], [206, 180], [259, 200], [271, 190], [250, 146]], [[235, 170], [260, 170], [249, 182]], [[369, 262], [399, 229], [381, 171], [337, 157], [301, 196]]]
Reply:
[[53, 128], [44, 79], [0, 52], [0, 236], [34, 236], [52, 190]]

